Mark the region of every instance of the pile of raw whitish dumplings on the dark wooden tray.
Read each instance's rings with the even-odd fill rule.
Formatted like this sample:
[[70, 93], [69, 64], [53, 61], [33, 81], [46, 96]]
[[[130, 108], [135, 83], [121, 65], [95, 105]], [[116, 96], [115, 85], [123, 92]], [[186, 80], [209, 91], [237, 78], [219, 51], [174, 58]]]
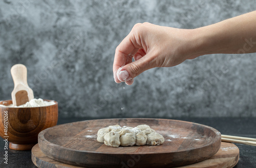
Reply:
[[126, 126], [109, 126], [101, 128], [97, 133], [97, 141], [111, 147], [161, 145], [164, 137], [148, 125], [135, 128]]

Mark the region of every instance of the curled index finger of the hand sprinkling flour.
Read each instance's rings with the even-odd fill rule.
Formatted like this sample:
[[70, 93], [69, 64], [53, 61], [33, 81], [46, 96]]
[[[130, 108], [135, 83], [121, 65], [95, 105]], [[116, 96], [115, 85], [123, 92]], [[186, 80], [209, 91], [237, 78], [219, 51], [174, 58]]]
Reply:
[[121, 82], [117, 78], [117, 70], [126, 64], [128, 56], [133, 57], [133, 55], [136, 54], [138, 51], [138, 46], [136, 47], [132, 41], [134, 41], [134, 36], [130, 33], [116, 47], [113, 63], [113, 74], [116, 83]]

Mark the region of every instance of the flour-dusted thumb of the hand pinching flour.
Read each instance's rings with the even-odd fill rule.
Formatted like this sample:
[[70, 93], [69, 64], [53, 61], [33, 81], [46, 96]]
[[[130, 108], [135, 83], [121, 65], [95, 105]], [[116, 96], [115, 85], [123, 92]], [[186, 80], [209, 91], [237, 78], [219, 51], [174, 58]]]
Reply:
[[137, 77], [138, 75], [143, 73], [143, 71], [155, 67], [155, 59], [149, 59], [151, 58], [149, 55], [150, 54], [148, 53], [142, 58], [126, 64], [123, 67], [120, 67], [117, 70], [118, 80], [121, 82], [126, 82], [126, 84], [128, 84], [129, 82], [127, 83], [127, 81], [130, 81], [133, 78]]

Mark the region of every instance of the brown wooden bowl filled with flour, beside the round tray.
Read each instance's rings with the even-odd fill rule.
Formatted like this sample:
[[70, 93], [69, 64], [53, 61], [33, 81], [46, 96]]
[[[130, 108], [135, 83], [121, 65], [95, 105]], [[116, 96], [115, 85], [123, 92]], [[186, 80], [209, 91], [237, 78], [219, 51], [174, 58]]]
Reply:
[[[10, 149], [31, 150], [40, 131], [57, 125], [58, 103], [54, 102], [43, 107], [0, 107], [0, 136], [8, 139]], [[12, 101], [0, 101], [0, 104], [8, 106]]]

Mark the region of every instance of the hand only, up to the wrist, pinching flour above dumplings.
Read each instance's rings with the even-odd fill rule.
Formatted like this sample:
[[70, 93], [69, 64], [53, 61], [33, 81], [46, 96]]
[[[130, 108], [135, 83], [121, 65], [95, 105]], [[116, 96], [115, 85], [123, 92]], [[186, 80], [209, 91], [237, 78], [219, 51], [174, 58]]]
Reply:
[[137, 23], [116, 48], [115, 82], [131, 85], [147, 69], [175, 66], [196, 58], [199, 55], [193, 46], [193, 30]]

